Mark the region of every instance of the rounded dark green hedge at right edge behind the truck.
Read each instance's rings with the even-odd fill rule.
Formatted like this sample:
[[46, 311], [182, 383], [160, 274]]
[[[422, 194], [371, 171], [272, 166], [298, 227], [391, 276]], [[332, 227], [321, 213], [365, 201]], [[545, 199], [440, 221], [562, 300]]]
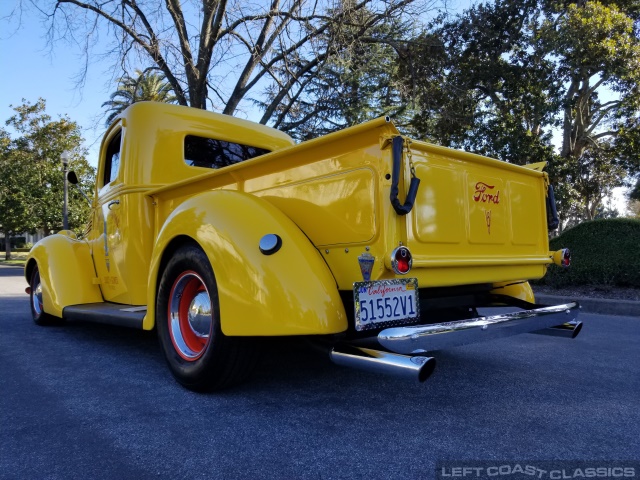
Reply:
[[538, 284], [640, 288], [640, 219], [581, 223], [549, 243], [552, 251], [571, 250], [571, 266], [551, 265]]

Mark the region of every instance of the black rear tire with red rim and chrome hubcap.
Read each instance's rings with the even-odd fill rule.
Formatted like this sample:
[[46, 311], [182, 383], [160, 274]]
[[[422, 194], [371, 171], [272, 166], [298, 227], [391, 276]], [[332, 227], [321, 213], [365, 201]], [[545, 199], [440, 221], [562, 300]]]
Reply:
[[257, 363], [251, 338], [222, 333], [215, 275], [197, 245], [182, 246], [162, 273], [156, 328], [171, 373], [190, 390], [236, 385]]

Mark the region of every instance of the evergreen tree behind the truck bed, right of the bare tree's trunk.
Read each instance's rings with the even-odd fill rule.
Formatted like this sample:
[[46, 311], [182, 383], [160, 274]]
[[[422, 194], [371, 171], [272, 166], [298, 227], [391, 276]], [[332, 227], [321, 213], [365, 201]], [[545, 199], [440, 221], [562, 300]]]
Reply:
[[[338, 9], [335, 15], [339, 13]], [[274, 127], [306, 140], [380, 116], [389, 115], [402, 123], [407, 108], [396, 85], [394, 58], [402, 54], [410, 25], [389, 19], [364, 35], [366, 17], [375, 14], [361, 9], [352, 15], [354, 19], [334, 25], [318, 38], [320, 50], [326, 52], [324, 61], [282, 97], [272, 120]], [[290, 59], [289, 64], [304, 61]], [[279, 84], [288, 81], [290, 71], [276, 71]], [[266, 109], [278, 93], [277, 88], [269, 90], [260, 105]]]

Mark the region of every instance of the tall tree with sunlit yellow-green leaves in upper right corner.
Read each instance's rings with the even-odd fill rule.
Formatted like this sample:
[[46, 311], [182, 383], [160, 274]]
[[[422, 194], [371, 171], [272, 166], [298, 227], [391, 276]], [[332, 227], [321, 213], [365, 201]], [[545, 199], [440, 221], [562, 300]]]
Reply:
[[[640, 39], [633, 18], [609, 3], [552, 8], [538, 33], [564, 86], [559, 98], [565, 158], [579, 158], [599, 141], [617, 137], [621, 121], [640, 107]], [[604, 99], [605, 89], [617, 98]]]

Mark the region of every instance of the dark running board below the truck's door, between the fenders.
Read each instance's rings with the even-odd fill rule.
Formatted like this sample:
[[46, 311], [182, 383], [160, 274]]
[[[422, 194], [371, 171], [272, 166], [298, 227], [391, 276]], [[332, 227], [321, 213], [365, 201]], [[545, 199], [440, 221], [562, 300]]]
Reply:
[[138, 329], [142, 329], [142, 321], [146, 314], [146, 306], [108, 302], [71, 305], [62, 310], [62, 317], [67, 320], [106, 323]]

